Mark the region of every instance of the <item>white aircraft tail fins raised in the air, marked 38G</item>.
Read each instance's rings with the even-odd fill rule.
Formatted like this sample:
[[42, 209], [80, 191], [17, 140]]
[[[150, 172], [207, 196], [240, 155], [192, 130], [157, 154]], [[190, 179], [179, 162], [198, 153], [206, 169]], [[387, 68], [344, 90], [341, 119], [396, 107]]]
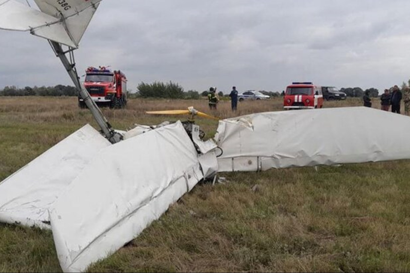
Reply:
[[31, 34], [78, 48], [101, 0], [34, 0], [39, 10], [16, 0], [0, 0], [0, 29]]

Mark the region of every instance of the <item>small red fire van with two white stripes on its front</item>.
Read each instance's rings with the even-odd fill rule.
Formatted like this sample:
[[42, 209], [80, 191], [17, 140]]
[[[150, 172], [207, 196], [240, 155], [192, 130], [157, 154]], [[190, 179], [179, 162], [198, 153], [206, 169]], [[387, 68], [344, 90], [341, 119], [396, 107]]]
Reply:
[[283, 98], [284, 109], [315, 109], [323, 107], [323, 94], [320, 86], [312, 82], [293, 82], [286, 87]]

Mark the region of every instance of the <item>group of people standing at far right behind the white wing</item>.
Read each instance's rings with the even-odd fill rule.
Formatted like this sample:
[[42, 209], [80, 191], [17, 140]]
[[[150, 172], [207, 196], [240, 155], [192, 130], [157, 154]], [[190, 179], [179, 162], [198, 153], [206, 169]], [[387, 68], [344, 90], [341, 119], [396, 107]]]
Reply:
[[[395, 85], [390, 92], [389, 89], [385, 89], [384, 93], [380, 96], [381, 109], [389, 111], [390, 105], [392, 106], [392, 112], [400, 114], [401, 100], [404, 102], [404, 112], [406, 115], [410, 114], [410, 88], [404, 87], [403, 93], [399, 89], [399, 86]], [[370, 92], [366, 91], [363, 96], [363, 103], [366, 107], [371, 107]]]

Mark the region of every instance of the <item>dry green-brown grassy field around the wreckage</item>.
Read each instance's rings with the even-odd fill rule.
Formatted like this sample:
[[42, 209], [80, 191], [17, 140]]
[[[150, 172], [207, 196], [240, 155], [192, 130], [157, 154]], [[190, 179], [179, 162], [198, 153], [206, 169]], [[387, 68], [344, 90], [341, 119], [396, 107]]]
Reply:
[[[282, 109], [280, 99], [236, 113], [229, 101], [210, 112], [206, 100], [135, 99], [102, 110], [127, 130], [187, 118], [145, 111], [191, 105], [220, 118]], [[0, 97], [0, 180], [85, 123], [98, 129], [76, 98]], [[213, 136], [217, 121], [197, 123]], [[410, 272], [410, 160], [219, 176], [227, 182], [199, 184], [89, 272]], [[61, 272], [51, 232], [0, 224], [0, 272]]]

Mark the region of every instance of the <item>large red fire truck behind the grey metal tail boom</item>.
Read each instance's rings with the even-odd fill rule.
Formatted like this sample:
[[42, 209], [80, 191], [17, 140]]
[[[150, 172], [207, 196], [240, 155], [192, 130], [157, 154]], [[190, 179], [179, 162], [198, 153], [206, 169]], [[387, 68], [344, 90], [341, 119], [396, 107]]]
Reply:
[[[127, 105], [127, 78], [121, 71], [111, 71], [100, 66], [90, 66], [85, 71], [84, 87], [91, 98], [98, 105], [107, 105], [110, 108], [123, 108]], [[81, 97], [78, 97], [78, 105], [87, 107]]]

